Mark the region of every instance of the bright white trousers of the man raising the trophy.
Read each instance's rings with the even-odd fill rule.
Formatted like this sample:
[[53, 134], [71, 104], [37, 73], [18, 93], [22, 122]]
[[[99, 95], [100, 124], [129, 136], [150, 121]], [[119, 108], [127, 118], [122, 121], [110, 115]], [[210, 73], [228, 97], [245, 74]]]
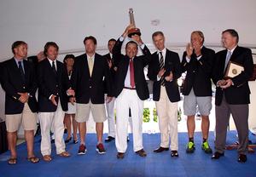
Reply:
[[124, 88], [116, 99], [115, 138], [117, 151], [123, 153], [127, 149], [129, 107], [131, 108], [133, 150], [139, 151], [143, 149], [143, 100], [139, 99], [135, 89]]

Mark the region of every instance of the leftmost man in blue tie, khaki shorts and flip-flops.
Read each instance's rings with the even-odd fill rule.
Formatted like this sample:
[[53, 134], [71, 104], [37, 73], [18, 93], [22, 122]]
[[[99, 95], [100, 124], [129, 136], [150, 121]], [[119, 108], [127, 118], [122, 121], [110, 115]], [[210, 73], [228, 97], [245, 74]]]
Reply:
[[32, 163], [38, 163], [39, 158], [33, 153], [34, 130], [37, 123], [37, 100], [35, 93], [37, 81], [33, 66], [26, 60], [27, 44], [16, 41], [12, 45], [15, 54], [10, 60], [1, 64], [2, 88], [5, 91], [5, 116], [7, 137], [11, 157], [9, 164], [17, 163], [16, 140], [20, 123], [25, 130], [27, 158]]

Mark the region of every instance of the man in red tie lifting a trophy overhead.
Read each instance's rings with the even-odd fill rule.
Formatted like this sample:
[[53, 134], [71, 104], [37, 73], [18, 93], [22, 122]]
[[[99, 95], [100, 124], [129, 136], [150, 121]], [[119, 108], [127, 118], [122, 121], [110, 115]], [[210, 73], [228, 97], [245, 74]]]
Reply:
[[[133, 150], [140, 157], [146, 157], [143, 150], [143, 100], [149, 97], [148, 84], [144, 77], [144, 67], [150, 60], [150, 51], [141, 39], [141, 32], [131, 23], [113, 47], [113, 60], [117, 65], [114, 79], [114, 97], [116, 97], [116, 139], [117, 158], [125, 157], [127, 149], [127, 128], [129, 108], [132, 115]], [[131, 41], [125, 45], [125, 55], [121, 47], [125, 37]], [[142, 56], [137, 56], [138, 47], [143, 50]]]

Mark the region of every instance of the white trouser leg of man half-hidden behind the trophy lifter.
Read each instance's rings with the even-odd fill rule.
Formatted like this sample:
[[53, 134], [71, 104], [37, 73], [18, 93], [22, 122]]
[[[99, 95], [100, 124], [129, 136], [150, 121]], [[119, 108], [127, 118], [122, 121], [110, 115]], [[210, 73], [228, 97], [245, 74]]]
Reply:
[[114, 98], [109, 103], [106, 102], [106, 110], [108, 115], [108, 136], [112, 136], [113, 138], [115, 137], [114, 102]]

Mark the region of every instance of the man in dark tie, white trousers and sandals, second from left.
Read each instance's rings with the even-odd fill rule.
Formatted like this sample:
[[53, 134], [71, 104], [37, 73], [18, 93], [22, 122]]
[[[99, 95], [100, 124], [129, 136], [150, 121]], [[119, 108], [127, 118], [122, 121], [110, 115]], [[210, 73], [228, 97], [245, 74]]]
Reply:
[[46, 162], [52, 160], [50, 128], [55, 134], [56, 153], [69, 157], [63, 140], [64, 114], [67, 111], [67, 94], [74, 94], [70, 89], [67, 71], [63, 63], [56, 60], [59, 47], [55, 42], [44, 46], [46, 59], [38, 63], [38, 116], [41, 127], [41, 153]]

